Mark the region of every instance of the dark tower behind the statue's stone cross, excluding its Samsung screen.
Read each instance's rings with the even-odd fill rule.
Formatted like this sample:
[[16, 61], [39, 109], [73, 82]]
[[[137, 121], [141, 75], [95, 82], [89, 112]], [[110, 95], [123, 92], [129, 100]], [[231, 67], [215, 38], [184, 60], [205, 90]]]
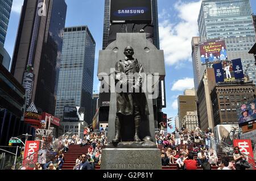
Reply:
[[[136, 0], [131, 0], [136, 2]], [[129, 1], [129, 2], [131, 2]], [[133, 33], [140, 32], [142, 29], [147, 35], [147, 40], [155, 45], [156, 48], [159, 47], [159, 28], [158, 28], [158, 1], [157, 0], [144, 0], [152, 2], [152, 22], [125, 22], [125, 23], [111, 23], [110, 22], [110, 0], [105, 0], [105, 12], [104, 12], [104, 31], [103, 31], [103, 44], [102, 49], [106, 49], [110, 43], [115, 40], [116, 33]], [[152, 30], [151, 30], [152, 28]], [[150, 32], [150, 33], [148, 33]], [[110, 94], [101, 93], [100, 94], [100, 122], [108, 123], [109, 117], [109, 104]], [[166, 107], [166, 92], [165, 92], [165, 81], [159, 83], [159, 96], [157, 99], [153, 100], [154, 104], [154, 119], [155, 124], [158, 116], [162, 112], [162, 108]]]

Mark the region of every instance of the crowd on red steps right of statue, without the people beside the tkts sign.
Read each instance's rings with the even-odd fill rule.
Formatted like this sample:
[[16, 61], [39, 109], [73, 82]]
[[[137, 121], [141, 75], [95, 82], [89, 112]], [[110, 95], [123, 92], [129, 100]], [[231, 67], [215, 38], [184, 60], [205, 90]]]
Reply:
[[[216, 150], [211, 148], [212, 137], [213, 134], [209, 130], [203, 134], [198, 127], [192, 132], [186, 128], [182, 128], [181, 131], [176, 128], [173, 133], [166, 136], [156, 134], [156, 144], [163, 145], [162, 165], [175, 164], [177, 169], [187, 170], [196, 170], [197, 165], [201, 169], [211, 169], [212, 165], [218, 166]], [[188, 150], [189, 144], [193, 144], [191, 151]]]

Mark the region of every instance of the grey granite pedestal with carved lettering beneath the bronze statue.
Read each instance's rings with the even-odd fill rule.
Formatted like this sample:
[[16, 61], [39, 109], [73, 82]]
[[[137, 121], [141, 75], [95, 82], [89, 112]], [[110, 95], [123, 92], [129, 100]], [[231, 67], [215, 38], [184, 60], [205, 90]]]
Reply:
[[102, 150], [101, 170], [161, 170], [157, 148], [106, 148]]

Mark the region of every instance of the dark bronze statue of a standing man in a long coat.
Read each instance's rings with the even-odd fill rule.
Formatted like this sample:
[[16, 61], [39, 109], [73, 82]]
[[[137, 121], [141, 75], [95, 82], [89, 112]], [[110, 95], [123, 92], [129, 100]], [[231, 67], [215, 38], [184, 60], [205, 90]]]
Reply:
[[[141, 142], [139, 138], [139, 129], [141, 125], [141, 117], [149, 115], [147, 99], [142, 92], [142, 76], [143, 67], [136, 58], [133, 58], [134, 49], [132, 47], [125, 48], [125, 60], [119, 60], [115, 64], [115, 85], [127, 87], [127, 91], [117, 92], [117, 115], [115, 117], [115, 137], [113, 144], [121, 141], [121, 128], [123, 118], [132, 116], [135, 126], [134, 141]], [[130, 77], [131, 74], [137, 73], [138, 76]], [[129, 89], [129, 85], [132, 85]], [[137, 90], [137, 91], [135, 91]]]

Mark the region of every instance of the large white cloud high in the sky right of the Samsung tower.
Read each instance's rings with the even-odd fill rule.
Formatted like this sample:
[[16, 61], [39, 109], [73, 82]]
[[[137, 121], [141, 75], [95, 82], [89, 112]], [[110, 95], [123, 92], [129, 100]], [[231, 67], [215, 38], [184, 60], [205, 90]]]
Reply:
[[[170, 19], [162, 20], [159, 23], [160, 48], [164, 50], [164, 56], [168, 65], [183, 64], [182, 62], [191, 61], [191, 40], [197, 36], [201, 0], [196, 2], [178, 1], [175, 10], [180, 20], [173, 24]], [[163, 17], [162, 11], [160, 17]], [[166, 12], [167, 13], [167, 12]], [[176, 67], [178, 68], [178, 67]]]

